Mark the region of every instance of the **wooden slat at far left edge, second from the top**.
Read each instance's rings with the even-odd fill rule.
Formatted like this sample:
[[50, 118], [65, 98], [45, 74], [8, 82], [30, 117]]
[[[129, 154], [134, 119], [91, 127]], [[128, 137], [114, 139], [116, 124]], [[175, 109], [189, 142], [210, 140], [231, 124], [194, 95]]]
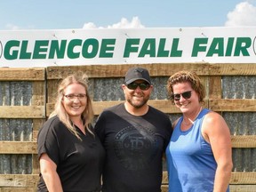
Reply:
[[44, 118], [44, 106], [0, 106], [0, 118]]

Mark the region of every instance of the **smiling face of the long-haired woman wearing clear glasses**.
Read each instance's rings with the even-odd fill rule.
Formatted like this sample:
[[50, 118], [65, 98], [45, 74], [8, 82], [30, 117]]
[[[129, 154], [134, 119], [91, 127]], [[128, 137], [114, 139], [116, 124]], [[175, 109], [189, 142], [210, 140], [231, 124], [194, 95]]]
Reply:
[[[62, 99], [62, 105], [68, 113], [71, 120], [81, 118], [81, 114], [84, 112], [87, 103], [87, 97], [81, 97], [81, 95], [86, 95], [86, 90], [82, 84], [69, 84], [63, 92], [64, 96]], [[66, 97], [67, 95], [75, 95], [71, 97]], [[80, 96], [80, 97], [77, 97]], [[68, 99], [69, 98], [69, 99]]]

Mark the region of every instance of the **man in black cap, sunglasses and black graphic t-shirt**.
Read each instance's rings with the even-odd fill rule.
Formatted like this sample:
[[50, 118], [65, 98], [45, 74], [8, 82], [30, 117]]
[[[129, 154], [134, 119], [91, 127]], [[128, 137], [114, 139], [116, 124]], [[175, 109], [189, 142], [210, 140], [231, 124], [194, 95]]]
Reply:
[[124, 103], [105, 109], [95, 124], [107, 152], [102, 191], [159, 192], [171, 121], [147, 104], [153, 85], [146, 68], [130, 68], [122, 89]]

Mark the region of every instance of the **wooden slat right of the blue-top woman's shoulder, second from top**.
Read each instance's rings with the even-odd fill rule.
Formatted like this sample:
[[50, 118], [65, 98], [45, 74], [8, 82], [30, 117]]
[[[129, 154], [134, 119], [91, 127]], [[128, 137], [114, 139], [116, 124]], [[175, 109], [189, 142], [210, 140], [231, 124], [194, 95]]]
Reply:
[[255, 112], [256, 100], [214, 99], [209, 100], [209, 108], [211, 108], [213, 111]]

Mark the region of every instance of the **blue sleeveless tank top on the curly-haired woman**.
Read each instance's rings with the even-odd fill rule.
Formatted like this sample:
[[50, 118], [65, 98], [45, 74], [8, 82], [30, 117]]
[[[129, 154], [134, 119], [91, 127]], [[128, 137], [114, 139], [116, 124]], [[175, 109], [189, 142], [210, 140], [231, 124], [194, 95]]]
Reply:
[[[180, 130], [183, 117], [176, 124], [166, 148], [169, 192], [211, 192], [217, 168], [211, 145], [201, 133], [204, 108], [194, 124], [185, 132]], [[229, 189], [227, 190], [229, 192]]]

